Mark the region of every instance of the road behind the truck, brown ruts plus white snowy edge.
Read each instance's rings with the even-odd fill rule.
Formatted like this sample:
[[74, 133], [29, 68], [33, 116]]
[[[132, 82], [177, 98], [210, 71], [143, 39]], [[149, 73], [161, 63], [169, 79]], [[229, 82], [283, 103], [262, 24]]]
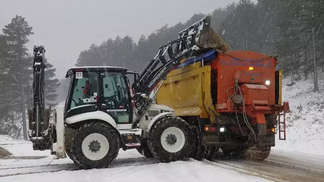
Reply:
[[324, 156], [272, 149], [263, 162], [214, 159], [238, 171], [248, 171], [274, 181], [324, 181]]

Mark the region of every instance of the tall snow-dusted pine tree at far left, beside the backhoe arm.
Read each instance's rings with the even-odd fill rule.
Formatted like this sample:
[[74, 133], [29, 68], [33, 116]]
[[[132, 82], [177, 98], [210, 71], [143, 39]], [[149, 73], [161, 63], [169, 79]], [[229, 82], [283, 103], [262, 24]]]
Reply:
[[[4, 66], [7, 68], [7, 73], [14, 78], [14, 81], [10, 84], [12, 107], [11, 116], [8, 119], [11, 120], [12, 126], [16, 131], [13, 133], [20, 134], [21, 125], [23, 127], [23, 138], [27, 139], [27, 128], [25, 118], [25, 86], [30, 80], [28, 67], [31, 66], [31, 61], [28, 60], [28, 49], [25, 44], [29, 41], [28, 36], [33, 34], [32, 27], [28, 25], [25, 18], [16, 15], [11, 19], [11, 22], [4, 25], [2, 29], [3, 35], [6, 39], [8, 47], [8, 56], [4, 62]], [[20, 109], [18, 109], [20, 107]]]

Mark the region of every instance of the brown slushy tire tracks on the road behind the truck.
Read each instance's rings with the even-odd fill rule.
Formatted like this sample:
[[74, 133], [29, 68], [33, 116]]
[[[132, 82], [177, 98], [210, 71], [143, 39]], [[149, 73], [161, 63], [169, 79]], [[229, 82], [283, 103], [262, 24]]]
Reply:
[[324, 170], [317, 163], [295, 159], [293, 157], [270, 154], [264, 161], [249, 161], [235, 159], [203, 160], [206, 164], [224, 167], [239, 172], [259, 176], [274, 181], [313, 181], [322, 182]]

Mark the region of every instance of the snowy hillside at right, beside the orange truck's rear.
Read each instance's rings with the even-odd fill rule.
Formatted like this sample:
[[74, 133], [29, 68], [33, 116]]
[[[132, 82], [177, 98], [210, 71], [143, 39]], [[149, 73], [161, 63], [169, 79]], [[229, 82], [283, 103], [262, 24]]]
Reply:
[[324, 73], [318, 72], [319, 92], [312, 91], [311, 74], [291, 86], [290, 76], [282, 82], [282, 101], [289, 101], [290, 113], [286, 116], [286, 140], [279, 140], [277, 132], [274, 149], [324, 155]]

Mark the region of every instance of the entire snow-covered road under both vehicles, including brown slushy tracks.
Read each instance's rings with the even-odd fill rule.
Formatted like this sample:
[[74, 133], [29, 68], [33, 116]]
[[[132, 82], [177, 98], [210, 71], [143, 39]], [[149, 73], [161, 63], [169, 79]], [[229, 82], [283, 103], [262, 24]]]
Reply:
[[[1, 143], [0, 143], [1, 145]], [[215, 159], [159, 163], [135, 149], [119, 151], [109, 168], [79, 170], [69, 159], [33, 151], [31, 143], [2, 143], [0, 181], [323, 181], [324, 156], [274, 149], [263, 162]]]

